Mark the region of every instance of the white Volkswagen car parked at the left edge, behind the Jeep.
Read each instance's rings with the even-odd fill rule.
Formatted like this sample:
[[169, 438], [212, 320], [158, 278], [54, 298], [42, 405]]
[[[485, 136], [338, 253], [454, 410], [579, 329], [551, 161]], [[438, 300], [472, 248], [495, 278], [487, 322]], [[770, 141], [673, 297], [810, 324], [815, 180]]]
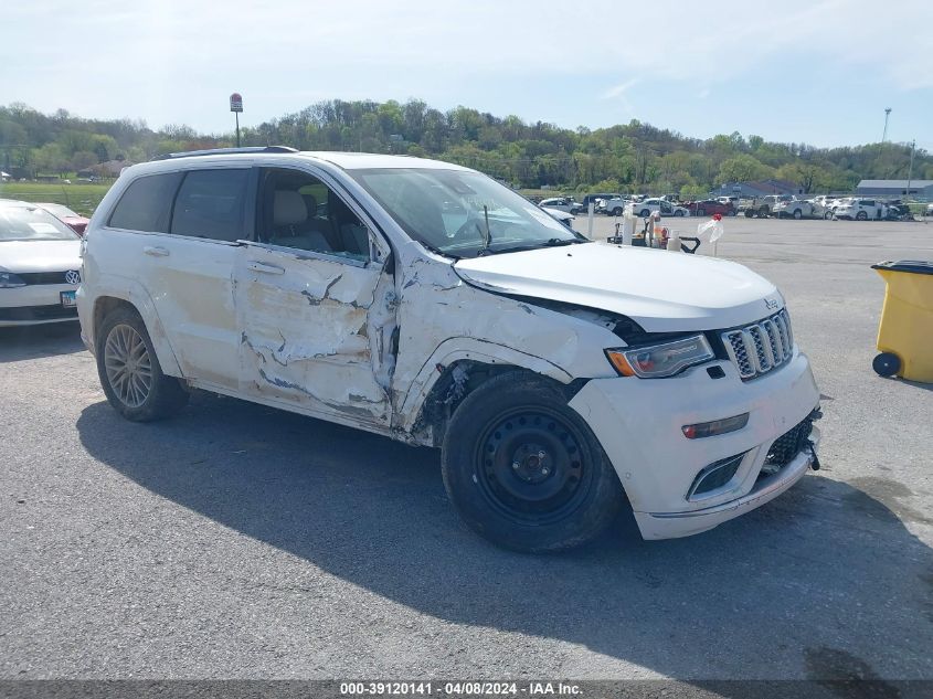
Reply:
[[47, 211], [0, 200], [0, 326], [77, 320], [81, 239]]

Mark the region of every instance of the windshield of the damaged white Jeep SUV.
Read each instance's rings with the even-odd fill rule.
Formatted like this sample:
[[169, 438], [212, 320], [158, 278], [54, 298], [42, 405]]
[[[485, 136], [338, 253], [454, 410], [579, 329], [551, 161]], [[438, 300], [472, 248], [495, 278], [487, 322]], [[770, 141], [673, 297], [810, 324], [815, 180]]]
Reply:
[[449, 257], [586, 242], [495, 180], [466, 170], [350, 170], [414, 240]]

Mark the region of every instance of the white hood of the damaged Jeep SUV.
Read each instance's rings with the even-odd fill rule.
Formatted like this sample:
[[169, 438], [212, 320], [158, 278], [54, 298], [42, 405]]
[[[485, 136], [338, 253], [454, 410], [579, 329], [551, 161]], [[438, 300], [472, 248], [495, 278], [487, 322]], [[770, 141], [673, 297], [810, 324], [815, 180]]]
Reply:
[[480, 288], [621, 314], [648, 332], [732, 328], [784, 306], [771, 282], [742, 265], [644, 247], [545, 247], [454, 268]]

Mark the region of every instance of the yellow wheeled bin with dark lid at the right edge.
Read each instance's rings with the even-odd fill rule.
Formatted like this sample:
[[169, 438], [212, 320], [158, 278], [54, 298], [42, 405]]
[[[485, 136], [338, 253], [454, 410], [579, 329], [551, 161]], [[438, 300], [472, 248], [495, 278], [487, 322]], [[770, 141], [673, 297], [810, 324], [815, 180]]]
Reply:
[[933, 383], [933, 262], [902, 260], [871, 265], [888, 290], [871, 363], [882, 377]]

